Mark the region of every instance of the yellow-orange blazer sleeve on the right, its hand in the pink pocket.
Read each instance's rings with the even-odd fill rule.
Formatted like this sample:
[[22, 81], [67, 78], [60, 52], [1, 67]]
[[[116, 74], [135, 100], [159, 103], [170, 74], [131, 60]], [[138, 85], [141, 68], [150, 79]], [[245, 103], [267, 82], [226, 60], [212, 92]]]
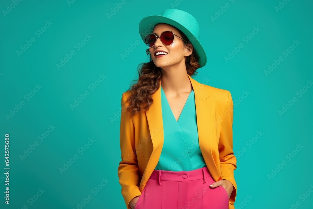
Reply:
[[234, 187], [234, 190], [229, 198], [229, 203], [234, 203], [237, 193], [237, 184], [234, 178], [234, 170], [237, 168], [237, 161], [233, 152], [233, 99], [229, 91], [228, 101], [221, 123], [218, 151], [222, 171], [222, 180], [229, 180]]

